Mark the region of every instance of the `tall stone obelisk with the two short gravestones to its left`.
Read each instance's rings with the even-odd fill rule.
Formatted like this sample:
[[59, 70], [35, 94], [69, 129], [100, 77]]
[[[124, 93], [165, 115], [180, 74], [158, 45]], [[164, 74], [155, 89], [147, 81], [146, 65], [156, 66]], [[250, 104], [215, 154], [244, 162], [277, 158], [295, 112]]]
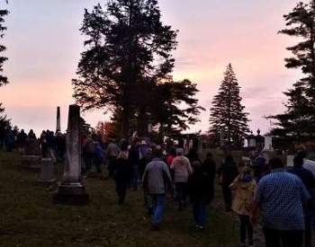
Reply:
[[[69, 105], [67, 122], [67, 154], [64, 164], [63, 178], [58, 185], [58, 192], [53, 203], [85, 204], [88, 195], [81, 177], [81, 145], [80, 145], [80, 108]], [[54, 163], [51, 158], [43, 158], [38, 140], [27, 140], [20, 165], [26, 168], [40, 168], [39, 181], [55, 181]]]

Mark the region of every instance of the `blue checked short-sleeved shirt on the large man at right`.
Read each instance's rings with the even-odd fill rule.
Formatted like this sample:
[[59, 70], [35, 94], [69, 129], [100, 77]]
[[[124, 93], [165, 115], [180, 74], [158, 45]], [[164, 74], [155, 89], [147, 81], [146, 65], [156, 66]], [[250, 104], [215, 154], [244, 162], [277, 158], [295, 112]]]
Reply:
[[279, 231], [303, 230], [302, 201], [310, 198], [299, 177], [284, 169], [275, 169], [263, 177], [254, 195], [264, 227]]

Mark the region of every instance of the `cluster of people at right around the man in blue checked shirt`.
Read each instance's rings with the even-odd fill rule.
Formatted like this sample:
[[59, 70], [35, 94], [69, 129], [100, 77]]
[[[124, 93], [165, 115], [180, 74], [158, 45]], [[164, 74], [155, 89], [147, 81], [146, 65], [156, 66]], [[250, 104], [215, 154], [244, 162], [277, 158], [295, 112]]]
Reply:
[[303, 152], [296, 154], [293, 167], [285, 167], [279, 157], [266, 163], [262, 154], [238, 166], [227, 156], [220, 165], [226, 210], [238, 214], [241, 246], [254, 246], [253, 226], [259, 211], [266, 247], [311, 247], [315, 174], [303, 163], [315, 168]]

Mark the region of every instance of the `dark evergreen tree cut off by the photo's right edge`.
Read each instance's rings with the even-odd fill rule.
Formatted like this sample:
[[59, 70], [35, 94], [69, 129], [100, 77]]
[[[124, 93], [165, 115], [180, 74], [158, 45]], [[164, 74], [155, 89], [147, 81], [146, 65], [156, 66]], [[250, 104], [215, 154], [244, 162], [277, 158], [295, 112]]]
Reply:
[[285, 58], [287, 68], [301, 68], [303, 77], [285, 92], [286, 110], [270, 116], [277, 128], [272, 130], [275, 137], [283, 141], [305, 141], [314, 139], [315, 133], [315, 1], [297, 4], [291, 13], [284, 15], [288, 27], [280, 33], [299, 38], [293, 47], [293, 57]]

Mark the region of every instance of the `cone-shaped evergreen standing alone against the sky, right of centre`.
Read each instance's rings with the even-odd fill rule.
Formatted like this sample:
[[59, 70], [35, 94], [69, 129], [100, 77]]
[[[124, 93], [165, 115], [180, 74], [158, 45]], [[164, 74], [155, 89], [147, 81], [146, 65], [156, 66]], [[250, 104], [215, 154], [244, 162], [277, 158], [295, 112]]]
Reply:
[[238, 80], [229, 64], [210, 109], [210, 136], [220, 146], [241, 147], [242, 140], [249, 131], [248, 113], [244, 112], [239, 89]]

